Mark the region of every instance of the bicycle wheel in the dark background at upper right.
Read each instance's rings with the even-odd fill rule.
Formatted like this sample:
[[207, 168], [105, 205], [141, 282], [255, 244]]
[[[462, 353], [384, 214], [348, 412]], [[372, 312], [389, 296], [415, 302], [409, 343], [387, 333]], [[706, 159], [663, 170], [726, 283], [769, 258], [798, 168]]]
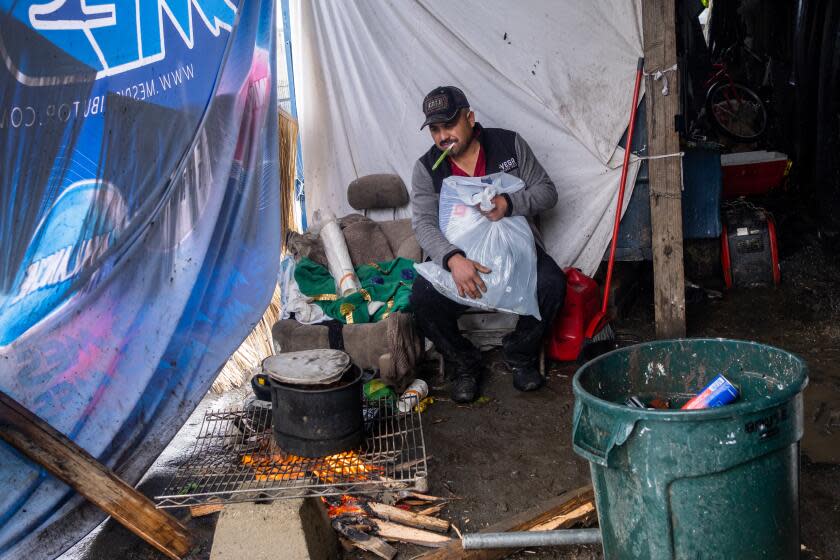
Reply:
[[753, 90], [741, 84], [718, 83], [706, 94], [706, 110], [723, 134], [752, 142], [767, 130], [767, 108]]

